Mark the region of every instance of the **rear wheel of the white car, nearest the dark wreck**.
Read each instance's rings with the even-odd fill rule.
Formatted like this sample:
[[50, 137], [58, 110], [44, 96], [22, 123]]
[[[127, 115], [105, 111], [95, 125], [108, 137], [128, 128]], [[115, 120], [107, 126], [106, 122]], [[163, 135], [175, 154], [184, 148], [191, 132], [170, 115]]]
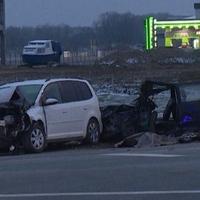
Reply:
[[87, 133], [85, 138], [86, 144], [97, 144], [100, 139], [100, 127], [95, 118], [89, 120], [87, 125]]

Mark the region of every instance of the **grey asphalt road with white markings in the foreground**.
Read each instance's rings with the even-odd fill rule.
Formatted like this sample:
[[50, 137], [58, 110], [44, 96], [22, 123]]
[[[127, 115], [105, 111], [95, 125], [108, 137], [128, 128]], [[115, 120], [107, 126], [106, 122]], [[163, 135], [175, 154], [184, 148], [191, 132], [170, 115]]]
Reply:
[[200, 143], [0, 156], [0, 200], [200, 199]]

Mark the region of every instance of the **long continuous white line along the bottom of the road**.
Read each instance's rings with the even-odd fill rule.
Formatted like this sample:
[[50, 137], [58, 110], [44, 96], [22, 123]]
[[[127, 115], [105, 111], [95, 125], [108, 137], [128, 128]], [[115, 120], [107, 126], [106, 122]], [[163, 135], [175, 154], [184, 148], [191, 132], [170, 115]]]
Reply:
[[70, 197], [70, 196], [137, 196], [137, 195], [169, 195], [169, 194], [200, 194], [200, 190], [0, 194], [0, 198]]

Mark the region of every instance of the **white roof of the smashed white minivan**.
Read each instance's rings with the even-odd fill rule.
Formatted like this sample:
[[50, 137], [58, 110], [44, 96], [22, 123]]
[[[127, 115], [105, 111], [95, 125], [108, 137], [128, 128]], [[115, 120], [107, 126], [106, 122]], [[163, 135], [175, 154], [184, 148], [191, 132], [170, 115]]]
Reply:
[[45, 83], [52, 83], [56, 81], [81, 81], [86, 82], [86, 80], [83, 79], [76, 79], [76, 78], [57, 78], [57, 79], [39, 79], [39, 80], [27, 80], [27, 81], [19, 81], [19, 82], [13, 82], [13, 83], [6, 83], [0, 86], [1, 87], [17, 87], [21, 85], [44, 85]]

